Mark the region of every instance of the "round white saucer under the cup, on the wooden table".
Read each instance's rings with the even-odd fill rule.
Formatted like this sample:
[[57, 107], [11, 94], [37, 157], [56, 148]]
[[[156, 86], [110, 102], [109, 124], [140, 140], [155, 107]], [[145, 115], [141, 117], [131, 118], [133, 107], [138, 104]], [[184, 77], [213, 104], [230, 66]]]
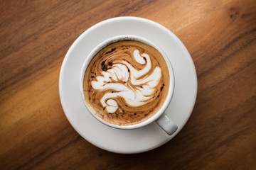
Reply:
[[[167, 135], [156, 123], [135, 130], [110, 128], [96, 120], [85, 108], [79, 88], [82, 63], [96, 45], [116, 35], [147, 38], [169, 56], [174, 67], [175, 90], [166, 114], [178, 125], [174, 135]], [[164, 145], [183, 128], [196, 102], [197, 77], [188, 50], [174, 33], [144, 18], [119, 17], [97, 23], [75, 40], [60, 70], [59, 89], [65, 115], [85, 140], [110, 152], [132, 154]]]

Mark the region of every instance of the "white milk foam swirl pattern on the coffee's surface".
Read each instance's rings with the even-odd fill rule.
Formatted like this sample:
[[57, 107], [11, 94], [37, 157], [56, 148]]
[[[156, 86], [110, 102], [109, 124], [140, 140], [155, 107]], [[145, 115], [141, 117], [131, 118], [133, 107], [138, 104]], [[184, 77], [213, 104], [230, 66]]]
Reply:
[[[143, 69], [136, 69], [126, 60], [122, 60], [112, 64], [107, 70], [103, 66], [102, 75], [91, 82], [93, 89], [105, 93], [100, 98], [100, 103], [108, 113], [114, 113], [119, 108], [116, 98], [123, 98], [129, 106], [139, 107], [149, 103], [154, 97], [156, 86], [161, 79], [161, 68], [152, 68], [149, 55], [146, 53], [140, 55], [139, 50], [134, 50], [132, 56], [138, 64], [144, 65]], [[151, 69], [154, 71], [149, 74]], [[105, 92], [110, 89], [112, 92]]]

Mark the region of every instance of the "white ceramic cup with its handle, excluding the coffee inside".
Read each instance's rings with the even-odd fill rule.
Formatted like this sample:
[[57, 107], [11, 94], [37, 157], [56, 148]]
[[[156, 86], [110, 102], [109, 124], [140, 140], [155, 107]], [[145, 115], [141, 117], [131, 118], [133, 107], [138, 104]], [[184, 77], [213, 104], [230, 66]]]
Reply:
[[[169, 82], [169, 91], [166, 96], [166, 101], [161, 106], [159, 111], [157, 111], [154, 115], [152, 115], [151, 118], [144, 120], [142, 123], [137, 123], [135, 125], [113, 125], [111, 123], [107, 123], [105, 120], [102, 120], [97, 115], [95, 115], [95, 110], [85, 102], [85, 94], [83, 91], [83, 81], [84, 81], [85, 71], [87, 69], [88, 64], [92, 60], [92, 58], [95, 57], [97, 52], [102, 50], [104, 47], [107, 47], [107, 45], [110, 45], [114, 42], [118, 42], [122, 40], [135, 40], [135, 41], [143, 42], [147, 45], [151, 45], [152, 47], [156, 48], [156, 50], [158, 50], [161, 53], [161, 55], [164, 57], [164, 60], [166, 61], [167, 67], [169, 69], [170, 82]], [[174, 94], [174, 71], [171, 66], [171, 62], [169, 61], [169, 58], [166, 56], [166, 54], [158, 46], [156, 46], [153, 42], [146, 40], [145, 38], [142, 38], [136, 35], [119, 35], [119, 36], [107, 39], [101, 42], [99, 45], [97, 45], [92, 50], [92, 52], [90, 52], [90, 54], [86, 57], [84, 64], [82, 64], [82, 69], [80, 73], [80, 94], [82, 96], [82, 101], [85, 103], [85, 106], [90, 111], [90, 113], [101, 123], [104, 123], [105, 125], [108, 125], [112, 128], [126, 129], [126, 130], [142, 128], [145, 125], [149, 125], [150, 123], [153, 123], [155, 121], [168, 135], [174, 134], [174, 132], [176, 132], [176, 130], [178, 129], [174, 121], [171, 120], [171, 118], [169, 118], [168, 115], [166, 115], [166, 113], [164, 113], [164, 111], [166, 111], [166, 108], [169, 106], [169, 103], [171, 102], [171, 98]]]

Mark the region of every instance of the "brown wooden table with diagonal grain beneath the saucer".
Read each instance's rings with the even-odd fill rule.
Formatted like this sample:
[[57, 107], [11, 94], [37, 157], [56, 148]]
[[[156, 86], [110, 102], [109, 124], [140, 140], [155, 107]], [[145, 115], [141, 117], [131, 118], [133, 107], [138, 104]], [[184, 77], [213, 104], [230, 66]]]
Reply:
[[[256, 1], [3, 0], [0, 11], [0, 169], [256, 169]], [[141, 154], [84, 140], [58, 94], [70, 45], [116, 16], [169, 28], [198, 74], [188, 123]]]

